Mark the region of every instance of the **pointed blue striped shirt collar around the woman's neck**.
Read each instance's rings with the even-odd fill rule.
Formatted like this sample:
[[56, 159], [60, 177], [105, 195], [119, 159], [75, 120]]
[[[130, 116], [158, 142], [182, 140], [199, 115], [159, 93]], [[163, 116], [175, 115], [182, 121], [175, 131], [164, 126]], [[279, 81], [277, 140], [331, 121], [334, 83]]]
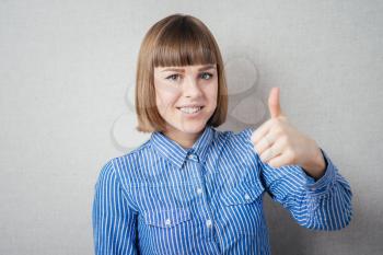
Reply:
[[175, 166], [181, 169], [190, 153], [197, 154], [199, 162], [205, 163], [209, 144], [214, 135], [214, 129], [207, 125], [204, 132], [199, 136], [190, 149], [184, 149], [176, 141], [170, 139], [160, 131], [154, 131], [151, 135], [151, 143], [153, 148], [169, 159]]

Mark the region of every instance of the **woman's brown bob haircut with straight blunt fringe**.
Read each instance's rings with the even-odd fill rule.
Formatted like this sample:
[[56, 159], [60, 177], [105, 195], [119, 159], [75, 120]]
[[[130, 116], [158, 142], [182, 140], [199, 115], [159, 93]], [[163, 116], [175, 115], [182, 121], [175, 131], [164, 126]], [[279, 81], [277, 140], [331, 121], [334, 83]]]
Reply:
[[225, 121], [228, 88], [218, 44], [200, 20], [173, 14], [150, 27], [141, 43], [136, 73], [138, 131], [162, 131], [166, 126], [155, 104], [154, 67], [190, 65], [217, 65], [217, 108], [207, 125], [218, 127]]

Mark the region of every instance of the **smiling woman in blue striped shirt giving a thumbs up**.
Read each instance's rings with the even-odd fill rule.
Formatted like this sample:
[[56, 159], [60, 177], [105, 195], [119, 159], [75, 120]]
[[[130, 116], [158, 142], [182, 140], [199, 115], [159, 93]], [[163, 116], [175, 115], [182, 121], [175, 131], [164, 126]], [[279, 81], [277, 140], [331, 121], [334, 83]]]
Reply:
[[228, 109], [219, 47], [189, 15], [155, 23], [141, 44], [136, 150], [101, 170], [93, 201], [96, 254], [269, 254], [267, 192], [301, 225], [338, 230], [351, 189], [316, 142], [282, 114], [256, 130], [219, 131]]

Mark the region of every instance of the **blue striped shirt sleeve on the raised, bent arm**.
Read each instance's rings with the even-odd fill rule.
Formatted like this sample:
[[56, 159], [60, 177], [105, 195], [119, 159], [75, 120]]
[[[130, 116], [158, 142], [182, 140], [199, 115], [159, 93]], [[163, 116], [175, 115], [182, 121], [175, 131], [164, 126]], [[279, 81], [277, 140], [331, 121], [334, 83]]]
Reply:
[[[248, 134], [249, 132], [249, 134]], [[252, 130], [247, 129], [247, 142]], [[326, 161], [325, 174], [317, 181], [299, 165], [272, 167], [260, 161], [253, 149], [260, 178], [275, 201], [288, 209], [302, 227], [315, 230], [339, 230], [351, 221], [352, 193], [349, 183], [339, 174], [329, 157], [321, 151]]]

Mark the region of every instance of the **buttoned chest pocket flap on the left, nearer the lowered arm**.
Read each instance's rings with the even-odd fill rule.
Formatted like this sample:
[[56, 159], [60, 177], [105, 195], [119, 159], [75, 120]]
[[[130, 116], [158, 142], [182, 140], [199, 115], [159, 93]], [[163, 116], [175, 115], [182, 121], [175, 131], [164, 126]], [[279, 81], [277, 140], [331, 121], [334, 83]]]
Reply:
[[144, 222], [148, 225], [153, 225], [158, 228], [173, 228], [190, 219], [190, 211], [187, 208], [147, 211], [144, 213]]

